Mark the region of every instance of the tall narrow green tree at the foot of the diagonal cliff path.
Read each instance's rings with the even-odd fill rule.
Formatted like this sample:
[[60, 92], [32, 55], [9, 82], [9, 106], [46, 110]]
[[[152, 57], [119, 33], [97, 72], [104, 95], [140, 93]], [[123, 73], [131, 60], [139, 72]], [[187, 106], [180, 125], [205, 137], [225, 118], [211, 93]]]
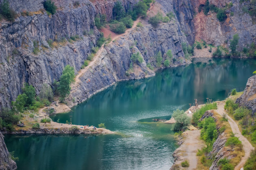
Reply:
[[75, 78], [75, 72], [74, 68], [67, 65], [65, 66], [61, 78], [60, 78], [60, 83], [58, 87], [59, 94], [61, 96], [60, 100], [63, 102], [65, 98], [70, 94], [70, 84], [74, 82]]

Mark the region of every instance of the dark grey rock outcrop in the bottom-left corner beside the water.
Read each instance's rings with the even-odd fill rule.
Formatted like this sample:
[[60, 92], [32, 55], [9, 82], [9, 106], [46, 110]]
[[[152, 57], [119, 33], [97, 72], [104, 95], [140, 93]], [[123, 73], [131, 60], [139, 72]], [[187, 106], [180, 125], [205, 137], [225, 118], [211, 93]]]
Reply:
[[15, 170], [17, 165], [11, 159], [11, 155], [4, 143], [4, 136], [0, 132], [0, 170]]

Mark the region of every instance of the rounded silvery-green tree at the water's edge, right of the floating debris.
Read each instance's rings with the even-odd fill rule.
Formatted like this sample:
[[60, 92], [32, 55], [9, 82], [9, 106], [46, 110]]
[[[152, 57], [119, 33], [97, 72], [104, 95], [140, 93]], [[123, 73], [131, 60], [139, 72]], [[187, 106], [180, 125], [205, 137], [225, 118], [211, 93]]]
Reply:
[[187, 113], [184, 110], [177, 109], [172, 114], [172, 117], [176, 120], [174, 125], [174, 130], [184, 130], [191, 124], [191, 118], [187, 116]]

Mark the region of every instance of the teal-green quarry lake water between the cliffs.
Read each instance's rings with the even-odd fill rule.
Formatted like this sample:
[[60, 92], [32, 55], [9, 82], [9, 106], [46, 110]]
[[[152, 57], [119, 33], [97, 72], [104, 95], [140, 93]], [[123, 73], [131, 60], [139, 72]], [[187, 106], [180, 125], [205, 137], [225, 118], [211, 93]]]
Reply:
[[256, 60], [222, 59], [208, 64], [168, 68], [155, 77], [119, 82], [51, 118], [65, 123], [95, 125], [120, 135], [6, 135], [9, 151], [15, 151], [18, 169], [169, 169], [178, 147], [171, 125], [152, 123], [169, 119], [173, 110], [206, 98], [223, 100], [231, 89], [243, 91], [256, 70]]

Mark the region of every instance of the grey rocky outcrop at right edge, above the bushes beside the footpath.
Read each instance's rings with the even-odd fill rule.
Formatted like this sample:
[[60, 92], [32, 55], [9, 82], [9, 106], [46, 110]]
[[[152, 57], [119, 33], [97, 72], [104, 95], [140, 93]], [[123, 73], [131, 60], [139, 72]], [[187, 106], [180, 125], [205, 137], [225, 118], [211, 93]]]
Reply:
[[256, 113], [256, 75], [248, 79], [243, 94], [236, 99], [239, 106], [245, 106]]

